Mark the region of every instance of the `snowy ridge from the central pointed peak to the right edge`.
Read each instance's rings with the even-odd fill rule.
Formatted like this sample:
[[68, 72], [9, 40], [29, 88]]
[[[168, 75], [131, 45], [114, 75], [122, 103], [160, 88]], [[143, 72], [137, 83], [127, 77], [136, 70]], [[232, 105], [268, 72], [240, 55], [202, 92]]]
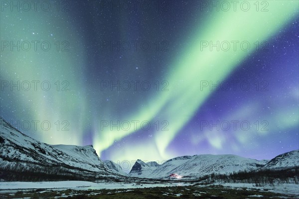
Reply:
[[256, 160], [233, 154], [179, 156], [171, 158], [161, 165], [157, 165], [155, 170], [149, 169], [148, 163], [137, 160], [128, 176], [164, 180], [181, 177], [195, 179], [210, 174], [229, 175], [231, 173], [252, 172], [273, 168], [288, 169], [289, 167], [299, 167], [298, 157], [299, 150], [286, 152], [271, 160]]

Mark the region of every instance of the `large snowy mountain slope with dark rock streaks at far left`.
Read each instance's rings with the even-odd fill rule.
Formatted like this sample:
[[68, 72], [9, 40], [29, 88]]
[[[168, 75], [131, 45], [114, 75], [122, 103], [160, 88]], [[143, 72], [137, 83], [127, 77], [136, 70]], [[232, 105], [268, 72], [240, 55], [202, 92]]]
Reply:
[[1, 117], [0, 171], [0, 179], [6, 180], [19, 178], [18, 172], [27, 172], [31, 176], [40, 173], [54, 179], [53, 176], [86, 179], [114, 175], [91, 145], [48, 145], [21, 133]]

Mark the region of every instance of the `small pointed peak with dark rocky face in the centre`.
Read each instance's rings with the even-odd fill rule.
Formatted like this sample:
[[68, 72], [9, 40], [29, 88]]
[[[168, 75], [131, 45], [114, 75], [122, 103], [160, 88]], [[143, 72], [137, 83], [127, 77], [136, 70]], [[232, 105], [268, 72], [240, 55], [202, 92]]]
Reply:
[[158, 168], [159, 164], [156, 162], [145, 163], [142, 160], [137, 160], [133, 165], [128, 176], [145, 178]]

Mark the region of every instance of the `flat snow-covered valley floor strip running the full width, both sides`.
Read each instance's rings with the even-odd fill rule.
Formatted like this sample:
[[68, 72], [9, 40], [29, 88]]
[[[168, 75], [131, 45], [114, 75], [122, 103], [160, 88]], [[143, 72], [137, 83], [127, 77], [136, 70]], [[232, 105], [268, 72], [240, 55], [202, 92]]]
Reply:
[[[0, 194], [15, 193], [20, 190], [34, 189], [57, 189], [57, 190], [115, 190], [115, 189], [136, 189], [136, 188], [152, 188], [152, 187], [176, 187], [176, 186], [192, 186], [192, 183], [93, 183], [87, 181], [58, 181], [58, 182], [1, 182]], [[265, 185], [257, 187], [250, 183], [215, 183], [215, 186], [220, 185], [229, 189], [256, 189], [260, 191], [269, 191], [273, 193], [292, 194], [299, 196], [299, 185], [297, 184], [279, 184], [275, 186]], [[197, 185], [197, 187], [207, 187], [206, 185]]]

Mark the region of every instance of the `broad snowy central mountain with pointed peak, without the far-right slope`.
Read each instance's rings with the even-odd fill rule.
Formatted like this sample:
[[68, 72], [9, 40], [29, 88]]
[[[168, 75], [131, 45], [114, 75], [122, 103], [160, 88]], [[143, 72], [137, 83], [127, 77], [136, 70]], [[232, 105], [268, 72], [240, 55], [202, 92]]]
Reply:
[[[170, 159], [165, 163], [158, 165], [153, 170], [146, 170], [144, 165], [138, 164], [142, 161], [137, 161], [135, 165], [139, 168], [132, 168], [133, 173], [137, 173], [135, 177], [153, 178], [153, 179], [172, 179], [173, 176], [182, 176], [183, 178], [194, 179], [199, 176], [204, 176], [212, 173], [229, 174], [238, 171], [252, 171], [264, 166], [268, 161], [257, 161], [250, 158], [243, 158], [237, 155], [194, 155], [181, 156]], [[134, 166], [135, 166], [134, 165]], [[140, 166], [141, 165], [141, 166]], [[130, 172], [130, 174], [132, 171]], [[175, 175], [173, 175], [175, 174]]]

